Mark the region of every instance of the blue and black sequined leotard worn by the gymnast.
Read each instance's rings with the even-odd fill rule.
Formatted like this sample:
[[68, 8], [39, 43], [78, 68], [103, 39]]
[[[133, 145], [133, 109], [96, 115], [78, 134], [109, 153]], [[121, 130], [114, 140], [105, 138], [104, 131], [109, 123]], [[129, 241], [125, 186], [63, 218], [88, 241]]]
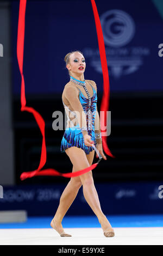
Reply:
[[[87, 125], [87, 133], [90, 135], [91, 140], [96, 145], [96, 139], [95, 139], [95, 117], [96, 117], [96, 103], [97, 103], [97, 93], [95, 88], [89, 83], [93, 90], [93, 96], [90, 97], [89, 93], [86, 90], [88, 98], [85, 97], [82, 93], [82, 91], [79, 89], [79, 100], [83, 107], [83, 111], [86, 114], [86, 125]], [[93, 147], [86, 146], [84, 144], [84, 137], [82, 130], [80, 130], [79, 124], [75, 125], [73, 124], [72, 120], [69, 118], [69, 114], [73, 114], [74, 117], [76, 117], [76, 113], [73, 112], [62, 100], [62, 103], [65, 107], [65, 112], [67, 114], [67, 122], [69, 121], [70, 124], [72, 124], [72, 127], [66, 127], [64, 136], [62, 137], [61, 141], [61, 152], [64, 152], [65, 149], [71, 148], [71, 147], [78, 147], [85, 151], [86, 154], [89, 154], [93, 149]], [[89, 114], [90, 113], [90, 114]]]

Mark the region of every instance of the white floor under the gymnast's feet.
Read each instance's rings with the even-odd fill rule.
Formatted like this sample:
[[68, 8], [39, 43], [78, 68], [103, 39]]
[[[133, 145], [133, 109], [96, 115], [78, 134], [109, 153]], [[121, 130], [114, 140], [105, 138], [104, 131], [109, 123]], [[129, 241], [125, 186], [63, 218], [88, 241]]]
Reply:
[[163, 228], [114, 228], [105, 237], [101, 228], [65, 228], [72, 237], [60, 237], [52, 228], [0, 229], [0, 245], [163, 245]]

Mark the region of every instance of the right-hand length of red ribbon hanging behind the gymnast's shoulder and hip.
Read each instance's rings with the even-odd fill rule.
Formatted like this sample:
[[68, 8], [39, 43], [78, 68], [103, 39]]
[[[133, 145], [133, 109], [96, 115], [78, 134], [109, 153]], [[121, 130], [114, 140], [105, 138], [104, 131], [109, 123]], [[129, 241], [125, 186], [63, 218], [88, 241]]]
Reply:
[[[102, 97], [101, 108], [100, 108], [100, 111], [104, 112], [104, 119], [103, 117], [101, 118], [101, 127], [103, 127], [104, 124], [106, 124], [106, 113], [109, 109], [110, 83], [109, 83], [108, 64], [106, 60], [103, 32], [102, 32], [101, 22], [99, 19], [95, 0], [91, 0], [91, 4], [93, 9], [93, 15], [95, 17], [99, 54], [101, 58], [101, 65], [102, 65], [102, 72], [103, 72], [104, 91], [103, 91], [103, 97]], [[102, 143], [103, 143], [103, 149], [105, 153], [111, 157], [115, 157], [111, 154], [110, 149], [108, 148], [106, 136], [102, 136]]]

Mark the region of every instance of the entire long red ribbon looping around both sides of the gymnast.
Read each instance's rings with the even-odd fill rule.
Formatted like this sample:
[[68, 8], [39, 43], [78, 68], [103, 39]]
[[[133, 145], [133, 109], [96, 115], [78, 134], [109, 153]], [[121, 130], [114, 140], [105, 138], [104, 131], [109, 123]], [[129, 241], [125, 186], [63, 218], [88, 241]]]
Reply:
[[[89, 172], [92, 169], [95, 169], [97, 167], [97, 163], [92, 164], [92, 166], [89, 166], [83, 170], [78, 170], [74, 173], [59, 173], [57, 170], [48, 168], [48, 169], [42, 169], [42, 167], [46, 163], [46, 142], [45, 142], [45, 121], [39, 114], [39, 112], [35, 111], [32, 107], [26, 107], [26, 95], [25, 95], [25, 83], [24, 83], [24, 76], [23, 76], [23, 51], [24, 51], [24, 31], [25, 31], [25, 14], [26, 14], [26, 3], [27, 0], [20, 0], [20, 8], [19, 8], [19, 15], [18, 15], [18, 32], [17, 32], [17, 60], [18, 60], [18, 66], [21, 73], [21, 111], [27, 111], [34, 115], [34, 118], [40, 128], [40, 131], [42, 133], [42, 149], [41, 149], [41, 159], [39, 167], [36, 170], [33, 170], [32, 172], [23, 172], [20, 176], [21, 180], [32, 178], [33, 176], [39, 176], [39, 175], [51, 175], [51, 176], [63, 176], [66, 178], [71, 178], [75, 176], [82, 175], [86, 172]], [[96, 22], [96, 29], [97, 29], [97, 35], [98, 35], [98, 44], [99, 44], [99, 51], [101, 56], [101, 62], [102, 62], [102, 69], [103, 69], [103, 77], [104, 77], [104, 94], [102, 99], [102, 106], [101, 109], [103, 111], [108, 110], [108, 97], [109, 97], [109, 75], [108, 75], [108, 66], [106, 63], [106, 56], [105, 56], [105, 46], [104, 46], [104, 40], [103, 40], [103, 34], [102, 34], [102, 28], [101, 23], [99, 21], [99, 16], [96, 8], [95, 1], [92, 1], [92, 8], [93, 13], [95, 15], [95, 22]], [[110, 153], [110, 150], [107, 147], [106, 144], [106, 137], [103, 137], [103, 148], [106, 154], [112, 156]], [[112, 156], [113, 157], [113, 156]]]

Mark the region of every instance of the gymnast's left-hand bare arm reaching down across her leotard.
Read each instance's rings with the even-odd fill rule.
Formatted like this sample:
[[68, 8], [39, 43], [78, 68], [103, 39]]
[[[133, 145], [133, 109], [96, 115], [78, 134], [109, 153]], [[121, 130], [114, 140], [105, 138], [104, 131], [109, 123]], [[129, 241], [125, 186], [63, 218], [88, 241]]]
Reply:
[[[73, 111], [77, 114], [77, 119], [78, 119], [80, 128], [87, 127], [86, 126], [86, 115], [84, 113], [82, 104], [79, 101], [77, 89], [74, 88], [73, 86], [65, 87], [64, 94], [65, 94], [66, 99], [72, 106]], [[91, 144], [94, 144], [94, 143], [93, 143], [93, 141], [91, 141], [91, 137], [88, 135], [87, 130], [82, 131], [82, 133], [83, 133], [85, 145], [92, 147]]]

